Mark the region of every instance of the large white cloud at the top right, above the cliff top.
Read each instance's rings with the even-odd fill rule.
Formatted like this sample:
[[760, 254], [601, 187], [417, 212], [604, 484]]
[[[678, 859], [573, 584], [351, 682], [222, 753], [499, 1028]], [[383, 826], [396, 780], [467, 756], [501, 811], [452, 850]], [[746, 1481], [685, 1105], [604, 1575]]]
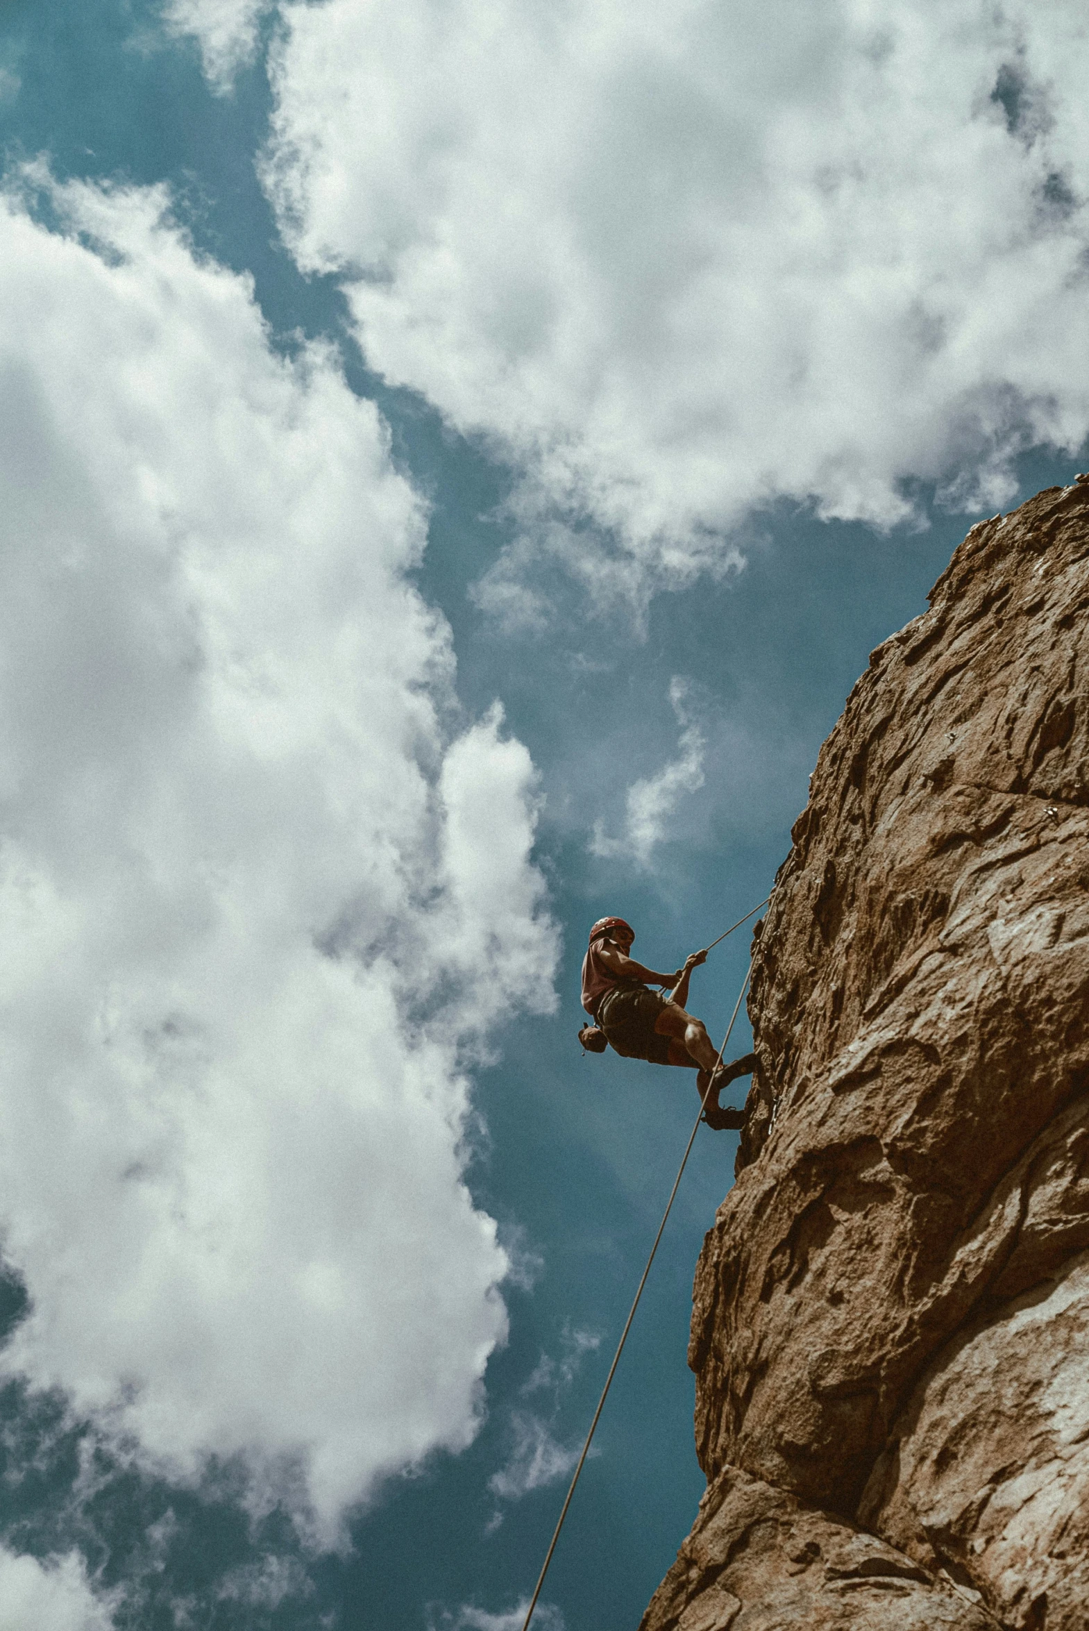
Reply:
[[737, 564], [776, 497], [887, 527], [1086, 435], [1074, 0], [280, 11], [284, 232], [520, 473], [504, 615], [541, 555], [631, 595]]

